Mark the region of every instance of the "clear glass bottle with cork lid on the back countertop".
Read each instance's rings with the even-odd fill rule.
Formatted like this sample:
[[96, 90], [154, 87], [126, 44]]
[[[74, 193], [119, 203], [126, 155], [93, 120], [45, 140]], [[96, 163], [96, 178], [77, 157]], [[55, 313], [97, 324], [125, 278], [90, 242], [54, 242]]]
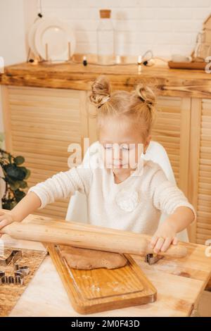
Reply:
[[99, 64], [114, 63], [114, 28], [110, 19], [110, 9], [100, 10], [97, 27], [97, 59]]

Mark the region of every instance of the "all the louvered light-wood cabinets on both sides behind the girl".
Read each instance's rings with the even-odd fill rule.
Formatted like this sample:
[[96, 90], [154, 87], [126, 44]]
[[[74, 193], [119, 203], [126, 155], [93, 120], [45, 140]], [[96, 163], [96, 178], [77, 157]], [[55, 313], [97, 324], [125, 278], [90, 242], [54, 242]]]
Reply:
[[[6, 148], [25, 156], [35, 185], [68, 170], [68, 145], [83, 137], [96, 141], [96, 120], [89, 117], [89, 90], [3, 86]], [[153, 139], [165, 147], [177, 185], [196, 208], [189, 229], [192, 242], [211, 239], [211, 99], [159, 96]], [[65, 218], [70, 198], [37, 214]]]

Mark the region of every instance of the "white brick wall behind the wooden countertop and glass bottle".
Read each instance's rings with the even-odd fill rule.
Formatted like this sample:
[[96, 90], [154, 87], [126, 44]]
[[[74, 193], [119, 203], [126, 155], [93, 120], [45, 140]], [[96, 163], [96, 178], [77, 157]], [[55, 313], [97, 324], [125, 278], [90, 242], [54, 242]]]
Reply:
[[[128, 55], [152, 49], [157, 56], [191, 54], [196, 35], [211, 13], [211, 0], [42, 0], [44, 15], [68, 20], [77, 53], [96, 53], [98, 11], [112, 10], [115, 28], [124, 26]], [[123, 21], [123, 24], [122, 24]]]

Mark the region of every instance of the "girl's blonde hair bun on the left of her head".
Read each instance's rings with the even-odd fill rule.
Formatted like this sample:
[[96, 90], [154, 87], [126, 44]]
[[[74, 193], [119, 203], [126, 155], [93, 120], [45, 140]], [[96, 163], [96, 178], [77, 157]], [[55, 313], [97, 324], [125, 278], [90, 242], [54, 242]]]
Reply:
[[89, 100], [94, 106], [100, 108], [110, 99], [110, 82], [104, 75], [99, 76], [91, 85]]

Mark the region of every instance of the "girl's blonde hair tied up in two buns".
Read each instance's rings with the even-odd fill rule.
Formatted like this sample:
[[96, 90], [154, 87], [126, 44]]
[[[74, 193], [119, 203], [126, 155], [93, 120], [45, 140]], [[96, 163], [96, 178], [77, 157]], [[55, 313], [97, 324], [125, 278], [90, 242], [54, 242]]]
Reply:
[[132, 120], [138, 130], [142, 127], [140, 133], [146, 139], [156, 118], [154, 91], [155, 86], [140, 82], [132, 92], [117, 90], [111, 93], [108, 78], [99, 76], [92, 84], [89, 95], [91, 104], [96, 106], [94, 117], [97, 118], [97, 129], [103, 125], [106, 116], [123, 115]]

